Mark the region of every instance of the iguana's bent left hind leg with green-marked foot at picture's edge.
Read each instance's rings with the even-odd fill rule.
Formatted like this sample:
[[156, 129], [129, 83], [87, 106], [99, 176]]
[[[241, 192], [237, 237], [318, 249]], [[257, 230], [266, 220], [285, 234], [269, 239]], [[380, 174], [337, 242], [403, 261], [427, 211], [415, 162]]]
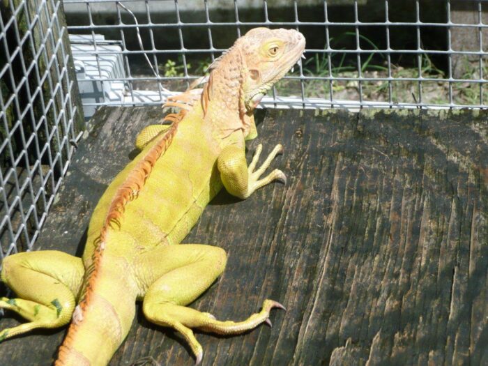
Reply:
[[0, 331], [0, 341], [36, 328], [69, 323], [82, 284], [82, 259], [63, 252], [23, 252], [3, 259], [1, 280], [18, 298], [0, 298], [0, 308], [29, 320]]

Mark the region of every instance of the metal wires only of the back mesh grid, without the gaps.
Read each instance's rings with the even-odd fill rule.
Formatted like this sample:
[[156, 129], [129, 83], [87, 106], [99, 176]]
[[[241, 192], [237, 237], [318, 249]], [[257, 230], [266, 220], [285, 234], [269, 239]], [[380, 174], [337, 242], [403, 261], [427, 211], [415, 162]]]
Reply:
[[[154, 22], [151, 17], [151, 8], [154, 8], [155, 3], [174, 3], [174, 22], [158, 23]], [[392, 6], [388, 0], [376, 1], [383, 2], [383, 12], [384, 20], [362, 22], [360, 20], [360, 15], [358, 8], [360, 4], [358, 1], [353, 1], [351, 7], [353, 8], [353, 21], [343, 22], [343, 21], [330, 21], [330, 14], [335, 8], [330, 6], [328, 2], [323, 1], [323, 20], [321, 22], [310, 22], [300, 20], [298, 17], [298, 1], [290, 1], [289, 5], [293, 9], [294, 20], [290, 22], [273, 22], [268, 17], [268, 13], [273, 11], [273, 9], [268, 9], [268, 1], [263, 1], [262, 10], [256, 9], [256, 12], [262, 14], [262, 21], [259, 22], [242, 22], [240, 20], [240, 1], [234, 0], [234, 20], [229, 22], [213, 22], [211, 20], [211, 12], [209, 11], [210, 6], [213, 1], [204, 0], [204, 8], [202, 11], [205, 15], [204, 22], [182, 22], [181, 11], [178, 6], [178, 1], [140, 1], [140, 0], [128, 0], [128, 1], [109, 1], [109, 0], [99, 0], [99, 1], [87, 1], [87, 0], [65, 0], [65, 7], [67, 10], [70, 6], [75, 6], [77, 4], [84, 4], [86, 7], [86, 14], [88, 15], [88, 22], [86, 24], [77, 24], [68, 26], [68, 31], [70, 33], [88, 33], [92, 35], [93, 45], [95, 47], [94, 54], [97, 60], [100, 56], [104, 54], [113, 54], [113, 51], [106, 52], [100, 49], [96, 41], [96, 33], [104, 33], [105, 31], [119, 31], [119, 40], [121, 40], [121, 51], [119, 54], [123, 57], [125, 63], [126, 77], [123, 78], [104, 78], [104, 77], [94, 77], [93, 80], [96, 81], [123, 81], [127, 87], [127, 94], [125, 99], [121, 102], [110, 102], [105, 100], [103, 102], [92, 103], [91, 105], [106, 105], [106, 104], [160, 104], [168, 95], [167, 89], [163, 88], [162, 84], [171, 82], [173, 80], [183, 80], [185, 82], [191, 82], [192, 79], [197, 78], [199, 75], [190, 75], [188, 68], [188, 57], [192, 54], [207, 54], [211, 56], [213, 60], [215, 55], [220, 54], [224, 51], [224, 48], [214, 47], [215, 40], [213, 39], [213, 31], [220, 27], [233, 27], [236, 31], [236, 36], [241, 36], [241, 30], [243, 28], [249, 29], [254, 26], [283, 26], [288, 28], [296, 28], [300, 31], [306, 31], [309, 27], [321, 27], [323, 31], [323, 36], [320, 34], [315, 35], [316, 37], [323, 37], [325, 40], [325, 47], [323, 48], [308, 48], [306, 49], [305, 55], [307, 57], [323, 56], [324, 65], [326, 65], [326, 70], [322, 70], [322, 73], [316, 73], [317, 70], [307, 70], [303, 65], [300, 64], [298, 68], [298, 74], [292, 74], [285, 79], [287, 82], [298, 82], [298, 90], [293, 91], [295, 98], [282, 98], [286, 97], [282, 91], [277, 91], [273, 89], [271, 98], [264, 100], [265, 102], [270, 102], [270, 105], [299, 105], [302, 106], [312, 106], [312, 107], [486, 107], [486, 98], [483, 96], [484, 85], [487, 80], [484, 77], [484, 60], [483, 58], [487, 56], [487, 52], [483, 49], [483, 30], [488, 27], [487, 24], [483, 23], [482, 20], [482, 1], [475, 1], [478, 6], [478, 20], [473, 24], [455, 24], [451, 22], [451, 1], [444, 0], [438, 1], [439, 9], [445, 11], [445, 19], [442, 22], [425, 22], [422, 21], [422, 13], [420, 7], [420, 1], [414, 1], [414, 12], [415, 20], [413, 22], [402, 22], [402, 21], [390, 21], [390, 11]], [[372, 2], [372, 1], [369, 1]], [[93, 8], [100, 3], [105, 6], [105, 8], [110, 8], [112, 6], [112, 12], [116, 14], [116, 19], [112, 24], [97, 24], [93, 17]], [[363, 4], [361, 2], [361, 4]], [[214, 4], [215, 5], [215, 4]], [[105, 9], [106, 10], [106, 9]], [[241, 10], [242, 12], [242, 10]], [[137, 13], [137, 20], [134, 13]], [[132, 18], [125, 18], [123, 20], [123, 15], [131, 14]], [[143, 20], [144, 18], [144, 20]], [[335, 48], [333, 37], [330, 36], [331, 32], [337, 28], [344, 29], [344, 27], [351, 29], [351, 33], [355, 38], [355, 44], [349, 47]], [[369, 47], [365, 42], [361, 31], [367, 27], [380, 27], [382, 31], [385, 32], [386, 44], [385, 47]], [[415, 43], [415, 47], [392, 47], [392, 38], [390, 38], [391, 29], [402, 27], [405, 31], [410, 31], [415, 29], [414, 34], [412, 34], [412, 41]], [[185, 47], [185, 43], [188, 43], [188, 39], [183, 36], [183, 31], [185, 29], [197, 28], [202, 32], [208, 34], [208, 47], [198, 47], [198, 48], [188, 48]], [[447, 37], [447, 44], [443, 49], [427, 49], [422, 45], [421, 32], [425, 29], [443, 29], [445, 31], [445, 36]], [[128, 47], [125, 36], [126, 33], [130, 31], [137, 31], [139, 33], [145, 31], [148, 40], [145, 41], [146, 49], [139, 49], [139, 47]], [[155, 43], [155, 32], [158, 32], [158, 36], [166, 33], [171, 29], [176, 29], [179, 38], [179, 47], [174, 47], [171, 49], [160, 49], [156, 47]], [[473, 50], [454, 50], [452, 49], [452, 31], [455, 29], [472, 29], [478, 33], [479, 47]], [[113, 33], [112, 33], [113, 34]], [[365, 45], [367, 47], [365, 47]], [[156, 75], [151, 75], [147, 73], [146, 75], [133, 75], [132, 65], [130, 63], [130, 57], [135, 55], [146, 54], [150, 62], [152, 63], [152, 68], [155, 70]], [[183, 75], [181, 76], [164, 76], [160, 74], [160, 57], [165, 57], [169, 54], [178, 55], [181, 58], [181, 63], [183, 66]], [[356, 59], [355, 73], [344, 74], [337, 73], [337, 68], [334, 66], [333, 57], [337, 54], [349, 56], [350, 59]], [[416, 71], [410, 75], [402, 75], [400, 72], [402, 68], [398, 68], [392, 63], [392, 58], [398, 56], [410, 56], [416, 59]], [[76, 56], [76, 55], [74, 55]], [[379, 74], [370, 73], [367, 69], [363, 68], [365, 60], [369, 59], [370, 56], [381, 56], [383, 58], [383, 72]], [[447, 59], [447, 70], [443, 73], [436, 73], [432, 75], [425, 73], [423, 64], [425, 60], [429, 60], [429, 57], [441, 56]], [[475, 70], [472, 70], [471, 75], [462, 75], [462, 77], [455, 77], [452, 73], [452, 59], [453, 57], [475, 57], [478, 58], [478, 66]], [[325, 71], [325, 72], [323, 72]], [[100, 74], [101, 75], [101, 74]], [[154, 93], [141, 93], [136, 91], [135, 84], [139, 82], [154, 82], [157, 85], [153, 89]], [[337, 93], [337, 89], [341, 87], [347, 87], [351, 89], [351, 84], [353, 84], [353, 89], [355, 93], [349, 93], [346, 96], [346, 100]], [[376, 85], [379, 88], [386, 90], [383, 93], [383, 98], [375, 98], [375, 96], [368, 95], [365, 92], [365, 88], [370, 85]], [[415, 88], [412, 87], [415, 85]], [[426, 98], [425, 86], [439, 84], [443, 85], [443, 89], [432, 92], [431, 94], [436, 95], [436, 98]], [[477, 86], [477, 96], [469, 100], [455, 100], [457, 92], [466, 87]], [[314, 90], [317, 86], [324, 89], [323, 95], [314, 96]], [[338, 87], [340, 86], [340, 87]], [[395, 91], [401, 88], [411, 89], [410, 93], [406, 93], [405, 96], [396, 96]], [[310, 92], [312, 91], [312, 93]], [[485, 91], [486, 92], [486, 91]], [[439, 98], [439, 95], [443, 95], [444, 98]], [[146, 96], [146, 98], [144, 98]], [[379, 99], [382, 99], [379, 101]], [[268, 104], [269, 105], [269, 104]]]

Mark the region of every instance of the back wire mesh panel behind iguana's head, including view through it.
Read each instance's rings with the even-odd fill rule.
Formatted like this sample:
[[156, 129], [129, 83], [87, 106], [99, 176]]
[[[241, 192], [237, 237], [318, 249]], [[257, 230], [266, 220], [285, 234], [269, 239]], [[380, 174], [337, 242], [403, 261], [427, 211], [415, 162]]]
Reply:
[[[255, 26], [296, 28], [307, 38], [307, 60], [265, 104], [485, 107], [488, 98], [485, 1], [64, 3], [68, 13], [77, 13], [70, 33], [91, 38], [86, 41], [93, 45], [94, 64], [114, 55], [123, 60], [124, 77], [91, 76], [121, 82], [123, 92], [87, 105], [160, 104], [169, 90], [184, 89]], [[469, 17], [459, 16], [467, 3]], [[105, 49], [100, 34], [118, 41], [119, 49]]]

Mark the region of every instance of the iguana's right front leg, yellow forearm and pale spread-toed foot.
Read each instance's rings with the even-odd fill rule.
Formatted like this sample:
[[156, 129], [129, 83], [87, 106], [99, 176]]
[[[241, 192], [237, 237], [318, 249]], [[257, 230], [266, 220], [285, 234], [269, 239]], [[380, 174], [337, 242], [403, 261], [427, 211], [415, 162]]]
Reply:
[[264, 171], [268, 169], [273, 159], [279, 153], [283, 152], [283, 146], [277, 144], [273, 151], [268, 155], [268, 158], [264, 160], [261, 167], [256, 169], [257, 162], [259, 161], [259, 156], [263, 145], [259, 144], [256, 148], [256, 152], [252, 157], [249, 167], [245, 160], [245, 154], [243, 148], [237, 145], [226, 146], [222, 153], [220, 153], [218, 158], [218, 169], [220, 171], [220, 178], [224, 184], [225, 189], [231, 195], [239, 197], [241, 199], [246, 199], [252, 193], [271, 183], [272, 181], [281, 181], [282, 183], [287, 183], [287, 177], [280, 169], [275, 169], [271, 171], [270, 174], [261, 178]]

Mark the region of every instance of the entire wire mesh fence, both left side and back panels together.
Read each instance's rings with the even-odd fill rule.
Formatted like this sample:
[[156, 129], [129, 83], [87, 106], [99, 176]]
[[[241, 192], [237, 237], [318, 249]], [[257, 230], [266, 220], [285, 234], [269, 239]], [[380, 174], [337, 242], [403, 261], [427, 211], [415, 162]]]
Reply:
[[77, 85], [86, 118], [101, 105], [160, 105], [256, 26], [298, 29], [307, 39], [307, 59], [264, 98], [268, 107], [487, 107], [487, 1], [1, 6], [0, 259], [31, 249], [66, 174], [79, 137]]

